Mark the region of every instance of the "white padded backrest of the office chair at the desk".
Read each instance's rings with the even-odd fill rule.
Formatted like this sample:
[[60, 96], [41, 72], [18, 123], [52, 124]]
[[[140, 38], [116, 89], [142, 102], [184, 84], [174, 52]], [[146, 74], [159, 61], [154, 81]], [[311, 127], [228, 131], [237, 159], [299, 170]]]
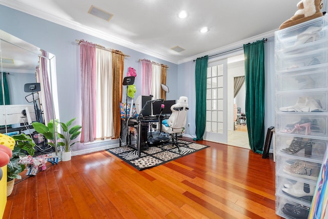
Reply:
[[187, 122], [188, 97], [180, 96], [177, 103], [171, 106], [172, 114], [168, 118], [168, 125], [173, 128], [185, 128]]

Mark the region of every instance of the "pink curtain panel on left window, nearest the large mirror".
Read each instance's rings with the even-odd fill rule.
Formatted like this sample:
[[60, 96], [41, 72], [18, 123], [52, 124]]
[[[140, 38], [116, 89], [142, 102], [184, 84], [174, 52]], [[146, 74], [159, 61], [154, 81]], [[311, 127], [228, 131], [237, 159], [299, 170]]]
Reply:
[[89, 42], [80, 41], [82, 130], [81, 143], [96, 139], [96, 49]]

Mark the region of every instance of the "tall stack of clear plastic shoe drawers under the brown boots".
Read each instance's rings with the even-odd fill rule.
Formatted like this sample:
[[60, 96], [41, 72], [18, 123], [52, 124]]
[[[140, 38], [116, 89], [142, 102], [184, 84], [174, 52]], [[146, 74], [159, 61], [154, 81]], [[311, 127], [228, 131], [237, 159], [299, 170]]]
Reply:
[[276, 213], [308, 218], [328, 143], [328, 16], [275, 33]]

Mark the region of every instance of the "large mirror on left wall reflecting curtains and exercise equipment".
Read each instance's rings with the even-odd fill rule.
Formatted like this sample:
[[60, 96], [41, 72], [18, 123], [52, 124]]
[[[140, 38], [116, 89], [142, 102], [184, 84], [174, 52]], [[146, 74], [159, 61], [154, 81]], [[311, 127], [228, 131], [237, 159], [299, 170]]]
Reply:
[[55, 55], [0, 30], [0, 61], [0, 133], [59, 119]]

